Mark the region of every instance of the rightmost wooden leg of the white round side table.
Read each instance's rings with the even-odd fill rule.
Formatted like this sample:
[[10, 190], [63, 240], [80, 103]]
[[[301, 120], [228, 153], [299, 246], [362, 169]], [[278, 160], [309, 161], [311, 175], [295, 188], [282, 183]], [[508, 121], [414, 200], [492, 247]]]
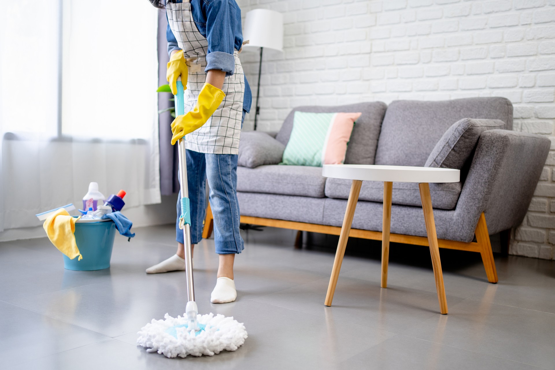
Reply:
[[426, 221], [426, 233], [430, 254], [432, 256], [433, 276], [436, 278], [437, 299], [440, 301], [440, 312], [447, 313], [447, 298], [445, 297], [445, 286], [443, 286], [443, 272], [441, 271], [440, 248], [437, 244], [436, 224], [433, 220], [432, 198], [430, 197], [430, 185], [428, 183], [418, 184], [420, 187], [420, 199], [422, 210]]

